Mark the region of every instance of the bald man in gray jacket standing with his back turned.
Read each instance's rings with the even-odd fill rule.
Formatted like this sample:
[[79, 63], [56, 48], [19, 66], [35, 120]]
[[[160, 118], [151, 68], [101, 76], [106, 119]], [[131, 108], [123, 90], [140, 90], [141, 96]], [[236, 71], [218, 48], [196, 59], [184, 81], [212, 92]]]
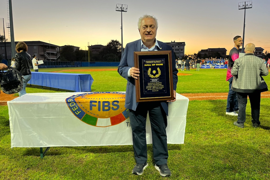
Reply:
[[236, 91], [239, 105], [239, 113], [235, 126], [244, 128], [246, 120], [247, 97], [251, 106], [252, 126], [259, 127], [261, 92], [268, 91], [267, 85], [262, 76], [268, 75], [264, 61], [254, 56], [255, 45], [249, 43], [245, 46], [245, 56], [234, 61], [231, 74], [232, 90]]

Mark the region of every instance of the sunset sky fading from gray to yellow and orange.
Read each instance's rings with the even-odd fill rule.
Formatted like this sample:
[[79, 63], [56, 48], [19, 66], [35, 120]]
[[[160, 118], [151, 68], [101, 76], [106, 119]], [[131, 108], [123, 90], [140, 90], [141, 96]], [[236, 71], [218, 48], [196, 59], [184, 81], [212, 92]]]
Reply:
[[[128, 5], [123, 12], [123, 45], [140, 39], [137, 22], [141, 15], [158, 19], [157, 40], [185, 42], [185, 54], [201, 49], [234, 46], [233, 37], [243, 36], [244, 10], [235, 0], [84, 1], [12, 0], [15, 41], [44, 41], [58, 46], [121, 42], [121, 12], [116, 4]], [[265, 8], [267, 7], [267, 8]], [[246, 10], [245, 42], [270, 51], [269, 0], [252, 1]], [[7, 18], [7, 2], [0, 2], [0, 18]], [[0, 34], [4, 34], [0, 19]], [[8, 28], [5, 28], [8, 38]]]

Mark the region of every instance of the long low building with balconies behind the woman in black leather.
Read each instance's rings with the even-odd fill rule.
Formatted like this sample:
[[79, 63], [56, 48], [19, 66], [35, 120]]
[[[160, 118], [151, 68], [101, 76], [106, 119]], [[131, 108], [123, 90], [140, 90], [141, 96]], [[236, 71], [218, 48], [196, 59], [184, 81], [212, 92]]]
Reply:
[[[23, 41], [28, 46], [27, 53], [36, 55], [39, 60], [43, 61], [58, 61], [60, 60], [60, 46], [45, 43], [42, 41]], [[18, 41], [15, 42], [15, 45]], [[5, 58], [5, 43], [0, 42], [0, 54]], [[7, 59], [11, 60], [11, 43], [6, 42]]]

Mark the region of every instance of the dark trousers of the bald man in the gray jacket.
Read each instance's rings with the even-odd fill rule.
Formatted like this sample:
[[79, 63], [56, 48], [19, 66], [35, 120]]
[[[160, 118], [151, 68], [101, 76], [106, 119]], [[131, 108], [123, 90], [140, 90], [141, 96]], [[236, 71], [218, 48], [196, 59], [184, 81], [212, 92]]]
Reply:
[[238, 106], [239, 106], [239, 112], [237, 117], [237, 123], [238, 124], [244, 124], [246, 121], [246, 106], [248, 102], [250, 101], [251, 106], [251, 117], [252, 123], [258, 123], [260, 118], [260, 104], [261, 104], [261, 92], [252, 92], [252, 93], [243, 93], [243, 92], [236, 92], [237, 94], [237, 100], [238, 100]]

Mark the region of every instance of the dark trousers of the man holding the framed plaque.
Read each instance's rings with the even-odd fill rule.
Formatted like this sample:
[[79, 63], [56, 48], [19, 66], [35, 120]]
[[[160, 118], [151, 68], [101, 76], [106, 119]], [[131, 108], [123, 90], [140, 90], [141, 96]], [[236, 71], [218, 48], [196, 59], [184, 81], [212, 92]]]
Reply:
[[166, 164], [168, 159], [166, 134], [167, 115], [161, 107], [160, 102], [140, 102], [136, 111], [129, 111], [136, 162], [147, 162], [146, 117], [148, 112], [152, 130], [153, 157], [155, 163], [157, 165]]

